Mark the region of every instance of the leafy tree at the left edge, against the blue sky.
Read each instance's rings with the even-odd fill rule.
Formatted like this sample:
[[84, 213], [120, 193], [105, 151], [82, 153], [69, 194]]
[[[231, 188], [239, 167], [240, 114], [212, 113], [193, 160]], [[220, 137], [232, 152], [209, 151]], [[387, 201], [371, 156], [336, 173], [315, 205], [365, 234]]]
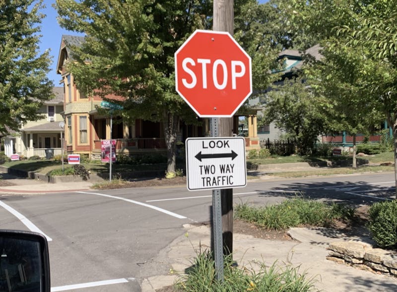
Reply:
[[40, 118], [53, 84], [47, 78], [49, 52], [39, 55], [42, 1], [0, 2], [0, 133]]

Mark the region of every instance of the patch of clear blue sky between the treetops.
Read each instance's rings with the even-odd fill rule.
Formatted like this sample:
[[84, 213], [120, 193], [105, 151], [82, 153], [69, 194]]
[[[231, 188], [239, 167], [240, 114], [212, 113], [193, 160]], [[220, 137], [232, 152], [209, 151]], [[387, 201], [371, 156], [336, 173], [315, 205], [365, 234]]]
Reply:
[[[268, 0], [259, 0], [260, 3], [265, 3], [267, 1]], [[48, 74], [48, 78], [54, 81], [55, 86], [60, 86], [59, 81], [61, 80], [61, 75], [57, 75], [56, 67], [58, 62], [59, 49], [61, 46], [61, 37], [63, 34], [77, 34], [67, 31], [59, 26], [57, 22], [57, 12], [52, 7], [52, 4], [54, 2], [55, 0], [44, 0], [46, 8], [41, 10], [41, 12], [46, 14], [47, 16], [42, 20], [41, 23], [42, 38], [40, 39], [40, 51], [44, 52], [47, 49], [51, 49], [50, 54], [52, 56], [53, 63], [50, 66], [51, 71]]]

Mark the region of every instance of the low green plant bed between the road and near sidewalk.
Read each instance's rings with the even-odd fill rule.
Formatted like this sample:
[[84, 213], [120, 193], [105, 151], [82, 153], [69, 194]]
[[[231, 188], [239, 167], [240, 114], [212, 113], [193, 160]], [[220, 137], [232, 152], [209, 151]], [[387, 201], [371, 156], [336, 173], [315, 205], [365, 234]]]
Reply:
[[343, 205], [294, 198], [260, 208], [240, 204], [235, 208], [235, 216], [266, 229], [285, 230], [300, 225], [328, 226], [334, 219], [351, 219], [354, 210]]

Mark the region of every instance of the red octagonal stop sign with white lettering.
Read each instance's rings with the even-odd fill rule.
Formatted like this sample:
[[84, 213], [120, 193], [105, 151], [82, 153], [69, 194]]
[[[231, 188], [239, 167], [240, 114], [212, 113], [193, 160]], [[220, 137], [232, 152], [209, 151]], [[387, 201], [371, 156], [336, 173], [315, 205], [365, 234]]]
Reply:
[[175, 53], [175, 87], [199, 117], [232, 117], [252, 93], [251, 58], [227, 32], [196, 30]]

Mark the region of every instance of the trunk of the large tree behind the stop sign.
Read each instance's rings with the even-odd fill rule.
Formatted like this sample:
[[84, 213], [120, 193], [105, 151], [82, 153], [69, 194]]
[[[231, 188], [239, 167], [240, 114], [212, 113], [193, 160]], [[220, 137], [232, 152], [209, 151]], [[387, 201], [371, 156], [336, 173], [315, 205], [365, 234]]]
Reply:
[[167, 173], [175, 173], [178, 124], [179, 116], [163, 111], [164, 136], [167, 146]]

